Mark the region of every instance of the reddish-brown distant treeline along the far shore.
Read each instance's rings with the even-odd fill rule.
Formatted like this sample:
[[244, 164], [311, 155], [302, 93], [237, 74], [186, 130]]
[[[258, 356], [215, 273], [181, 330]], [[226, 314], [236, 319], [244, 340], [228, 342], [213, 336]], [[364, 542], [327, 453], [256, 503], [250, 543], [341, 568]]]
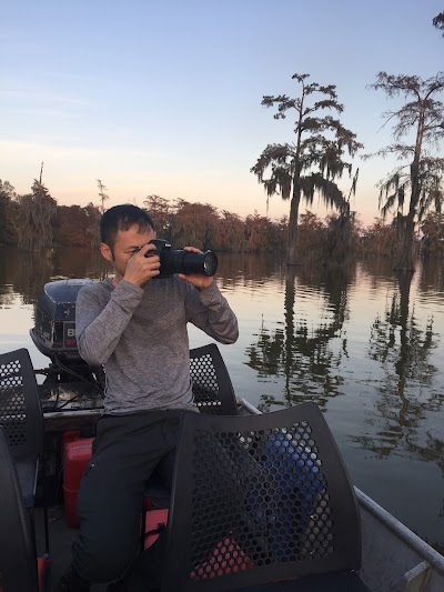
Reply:
[[[48, 250], [57, 245], [97, 249], [100, 243], [101, 207], [89, 203], [60, 205], [40, 181], [31, 192], [18, 195], [8, 181], [0, 180], [0, 245], [14, 245], [29, 251]], [[236, 253], [284, 254], [289, 220], [271, 220], [250, 214], [241, 218], [208, 203], [173, 201], [148, 195], [143, 201], [154, 219], [158, 235], [174, 248], [188, 244], [202, 250]], [[416, 252], [424, 257], [444, 255], [444, 215], [430, 213], [421, 225], [422, 239]], [[355, 255], [395, 257], [395, 224], [381, 219], [367, 228], [353, 214], [331, 214], [321, 220], [305, 210], [299, 217], [299, 255], [315, 257], [325, 263], [340, 263]]]

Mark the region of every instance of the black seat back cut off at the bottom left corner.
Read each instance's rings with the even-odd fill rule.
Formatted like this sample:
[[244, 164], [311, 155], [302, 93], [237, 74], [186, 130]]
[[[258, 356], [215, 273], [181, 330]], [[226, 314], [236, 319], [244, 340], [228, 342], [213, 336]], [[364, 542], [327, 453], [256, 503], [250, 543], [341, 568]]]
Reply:
[[37, 560], [17, 471], [0, 427], [0, 586], [3, 592], [38, 591]]

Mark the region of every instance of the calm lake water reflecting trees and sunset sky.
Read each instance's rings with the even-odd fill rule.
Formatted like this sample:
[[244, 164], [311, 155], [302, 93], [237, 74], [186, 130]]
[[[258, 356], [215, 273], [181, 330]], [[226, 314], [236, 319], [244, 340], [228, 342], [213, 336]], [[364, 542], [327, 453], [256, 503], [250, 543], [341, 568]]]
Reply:
[[[0, 351], [49, 360], [29, 329], [43, 284], [100, 278], [93, 254], [53, 260], [0, 249]], [[422, 265], [398, 283], [385, 262], [350, 269], [220, 255], [218, 283], [240, 339], [220, 345], [235, 391], [262, 410], [315, 401], [353, 482], [428, 542], [444, 546], [444, 274]], [[148, 338], [149, 339], [149, 338]], [[190, 329], [191, 347], [209, 338]]]

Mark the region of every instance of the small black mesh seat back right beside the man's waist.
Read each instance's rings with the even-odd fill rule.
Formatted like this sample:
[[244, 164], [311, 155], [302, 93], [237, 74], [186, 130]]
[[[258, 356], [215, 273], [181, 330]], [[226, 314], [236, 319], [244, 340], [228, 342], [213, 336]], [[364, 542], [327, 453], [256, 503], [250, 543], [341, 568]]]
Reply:
[[190, 350], [190, 374], [201, 413], [238, 414], [233, 384], [215, 343]]

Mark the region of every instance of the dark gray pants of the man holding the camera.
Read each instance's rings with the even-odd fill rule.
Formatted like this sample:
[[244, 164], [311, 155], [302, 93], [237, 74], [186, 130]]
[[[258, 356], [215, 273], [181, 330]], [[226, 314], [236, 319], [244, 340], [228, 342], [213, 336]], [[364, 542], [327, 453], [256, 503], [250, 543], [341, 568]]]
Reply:
[[[125, 580], [132, 581], [132, 571], [143, 572], [148, 552], [139, 550], [144, 484], [157, 469], [171, 490], [184, 412], [148, 411], [99, 421], [91, 462], [80, 484], [80, 532], [73, 543], [75, 569], [87, 581], [111, 582], [125, 572]], [[140, 590], [147, 583], [141, 582]]]

